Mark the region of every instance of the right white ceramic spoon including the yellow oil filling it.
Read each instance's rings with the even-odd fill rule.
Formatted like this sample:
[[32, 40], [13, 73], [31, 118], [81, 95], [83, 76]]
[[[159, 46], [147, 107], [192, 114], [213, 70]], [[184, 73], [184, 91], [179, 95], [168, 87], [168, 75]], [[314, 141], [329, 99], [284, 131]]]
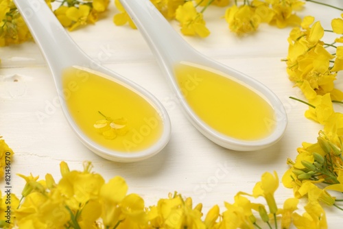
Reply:
[[[165, 71], [185, 115], [204, 136], [217, 145], [237, 151], [263, 149], [281, 139], [287, 115], [279, 98], [269, 88], [193, 49], [149, 0], [120, 1]], [[180, 65], [184, 68], [181, 71]], [[190, 77], [185, 78], [185, 75]], [[189, 86], [190, 82], [193, 86]], [[185, 90], [187, 84], [189, 90]], [[224, 84], [230, 86], [224, 88]], [[235, 93], [226, 93], [228, 91], [240, 93], [241, 97], [235, 98]], [[242, 97], [246, 93], [251, 96], [244, 102]], [[255, 113], [264, 110], [263, 106], [272, 115], [261, 113], [255, 120]], [[259, 130], [263, 133], [257, 133]], [[250, 132], [257, 134], [250, 136]]]

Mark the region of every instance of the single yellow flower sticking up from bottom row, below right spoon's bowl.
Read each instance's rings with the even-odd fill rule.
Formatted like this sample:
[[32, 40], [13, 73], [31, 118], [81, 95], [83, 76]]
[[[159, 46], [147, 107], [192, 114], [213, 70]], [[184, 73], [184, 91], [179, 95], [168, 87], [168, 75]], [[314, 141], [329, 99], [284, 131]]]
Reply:
[[276, 202], [274, 199], [274, 192], [279, 187], [279, 177], [274, 171], [274, 176], [272, 173], [265, 172], [261, 176], [261, 181], [255, 184], [252, 190], [252, 195], [254, 197], [263, 196], [267, 201], [270, 213], [275, 214], [277, 211]]

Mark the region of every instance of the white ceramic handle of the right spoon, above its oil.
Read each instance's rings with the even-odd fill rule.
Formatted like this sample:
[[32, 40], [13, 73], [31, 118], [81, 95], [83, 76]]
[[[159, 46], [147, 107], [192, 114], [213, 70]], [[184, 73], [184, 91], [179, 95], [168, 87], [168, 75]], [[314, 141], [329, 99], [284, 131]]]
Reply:
[[168, 69], [196, 52], [149, 0], [119, 0], [154, 51], [161, 66]]

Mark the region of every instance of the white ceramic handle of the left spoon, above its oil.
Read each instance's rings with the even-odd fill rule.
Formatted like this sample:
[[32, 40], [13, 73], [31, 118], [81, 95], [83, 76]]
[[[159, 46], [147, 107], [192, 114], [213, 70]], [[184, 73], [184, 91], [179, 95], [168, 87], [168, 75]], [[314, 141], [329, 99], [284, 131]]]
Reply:
[[55, 77], [62, 69], [88, 60], [44, 0], [13, 1]]

